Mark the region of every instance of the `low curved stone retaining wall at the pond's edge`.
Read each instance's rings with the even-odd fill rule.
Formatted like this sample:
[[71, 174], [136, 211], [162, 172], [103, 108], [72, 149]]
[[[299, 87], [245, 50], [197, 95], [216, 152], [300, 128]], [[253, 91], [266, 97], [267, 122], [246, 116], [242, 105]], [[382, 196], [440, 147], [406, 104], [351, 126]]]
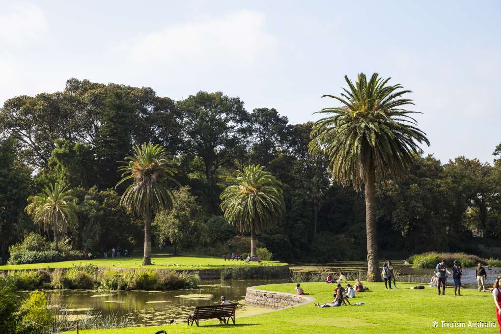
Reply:
[[272, 308], [297, 306], [310, 302], [310, 298], [292, 293], [260, 290], [255, 286], [248, 287], [245, 292], [246, 304]]

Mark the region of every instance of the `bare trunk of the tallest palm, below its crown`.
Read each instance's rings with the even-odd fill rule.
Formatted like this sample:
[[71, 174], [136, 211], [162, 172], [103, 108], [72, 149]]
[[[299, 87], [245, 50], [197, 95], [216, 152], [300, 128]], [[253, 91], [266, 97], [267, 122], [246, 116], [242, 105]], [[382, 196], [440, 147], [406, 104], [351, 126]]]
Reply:
[[367, 230], [367, 281], [381, 281], [377, 261], [376, 180], [374, 163], [365, 173], [365, 221]]

